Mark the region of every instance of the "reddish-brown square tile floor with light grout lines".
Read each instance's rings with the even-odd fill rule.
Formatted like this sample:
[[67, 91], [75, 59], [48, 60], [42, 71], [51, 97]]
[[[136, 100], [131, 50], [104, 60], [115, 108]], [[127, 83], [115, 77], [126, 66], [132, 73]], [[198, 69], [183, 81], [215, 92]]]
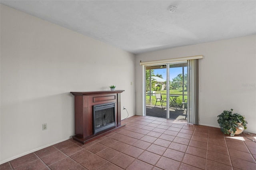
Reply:
[[133, 116], [125, 127], [88, 144], [73, 139], [0, 166], [1, 170], [256, 170], [255, 134]]

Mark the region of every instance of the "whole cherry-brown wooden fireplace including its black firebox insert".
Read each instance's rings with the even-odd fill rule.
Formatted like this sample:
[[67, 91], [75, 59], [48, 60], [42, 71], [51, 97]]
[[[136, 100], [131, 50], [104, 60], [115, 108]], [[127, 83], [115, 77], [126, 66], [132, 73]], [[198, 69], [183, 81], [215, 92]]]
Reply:
[[[75, 97], [73, 139], [84, 144], [125, 126], [121, 124], [121, 93], [123, 91], [70, 92]], [[99, 121], [102, 122], [99, 123]]]

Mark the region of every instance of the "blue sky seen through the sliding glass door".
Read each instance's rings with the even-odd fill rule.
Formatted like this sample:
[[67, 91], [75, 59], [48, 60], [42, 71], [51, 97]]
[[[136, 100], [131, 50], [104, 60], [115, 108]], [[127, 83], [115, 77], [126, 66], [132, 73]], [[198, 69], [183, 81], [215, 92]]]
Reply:
[[[186, 69], [187, 67], [184, 67], [184, 74], [186, 74]], [[154, 75], [156, 74], [162, 74], [163, 79], [166, 80], [166, 69], [154, 69]], [[182, 67], [175, 67], [175, 68], [170, 68], [170, 81], [172, 81], [172, 79], [174, 77], [177, 77], [178, 74], [182, 73]]]

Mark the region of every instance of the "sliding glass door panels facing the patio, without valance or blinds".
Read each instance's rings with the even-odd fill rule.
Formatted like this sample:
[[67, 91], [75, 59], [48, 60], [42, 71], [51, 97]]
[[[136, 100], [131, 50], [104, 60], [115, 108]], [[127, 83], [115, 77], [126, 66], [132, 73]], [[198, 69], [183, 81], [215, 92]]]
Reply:
[[186, 120], [187, 62], [150, 65], [145, 68], [146, 116]]

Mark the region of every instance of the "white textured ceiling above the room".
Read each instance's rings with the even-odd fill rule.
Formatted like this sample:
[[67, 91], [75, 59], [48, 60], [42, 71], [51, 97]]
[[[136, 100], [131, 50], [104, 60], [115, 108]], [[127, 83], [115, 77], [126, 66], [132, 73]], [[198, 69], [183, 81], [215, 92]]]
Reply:
[[[1, 4], [144, 53], [256, 34], [256, 1], [1, 0]], [[178, 6], [170, 13], [170, 5]]]

